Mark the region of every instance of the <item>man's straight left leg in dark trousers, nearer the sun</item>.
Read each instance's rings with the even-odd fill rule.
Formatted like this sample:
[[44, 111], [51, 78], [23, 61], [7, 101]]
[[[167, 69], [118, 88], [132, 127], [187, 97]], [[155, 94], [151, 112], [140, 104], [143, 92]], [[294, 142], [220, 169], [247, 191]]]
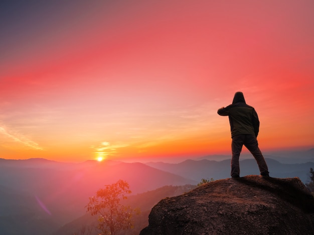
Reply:
[[231, 150], [231, 177], [240, 176], [239, 158], [243, 146], [244, 134], [238, 134], [232, 137]]

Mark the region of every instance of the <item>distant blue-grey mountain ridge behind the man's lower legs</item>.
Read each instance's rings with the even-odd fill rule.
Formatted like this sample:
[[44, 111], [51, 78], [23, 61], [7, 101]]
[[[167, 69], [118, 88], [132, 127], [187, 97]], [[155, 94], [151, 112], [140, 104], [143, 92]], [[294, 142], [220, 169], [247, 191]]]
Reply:
[[[284, 164], [270, 158], [265, 159], [271, 176], [280, 178], [299, 177], [304, 183], [309, 180], [309, 168], [314, 168], [314, 162]], [[190, 159], [180, 163], [147, 162], [145, 164], [198, 182], [202, 178], [221, 179], [230, 177], [230, 159], [222, 161]], [[240, 169], [240, 175], [242, 176], [259, 173], [257, 163], [253, 157], [240, 160]]]

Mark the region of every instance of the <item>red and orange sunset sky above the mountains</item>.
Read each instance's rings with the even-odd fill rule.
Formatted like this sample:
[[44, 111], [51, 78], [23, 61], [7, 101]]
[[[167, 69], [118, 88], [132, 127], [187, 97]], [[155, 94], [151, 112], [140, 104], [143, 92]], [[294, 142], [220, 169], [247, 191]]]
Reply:
[[259, 146], [314, 146], [312, 0], [2, 0], [0, 158], [230, 154], [236, 91]]

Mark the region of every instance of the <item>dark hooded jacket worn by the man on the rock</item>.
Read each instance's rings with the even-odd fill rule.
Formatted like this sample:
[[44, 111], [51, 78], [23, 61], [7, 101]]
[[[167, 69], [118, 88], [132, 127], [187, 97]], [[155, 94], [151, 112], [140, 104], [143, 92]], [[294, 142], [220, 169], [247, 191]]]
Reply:
[[246, 104], [242, 92], [236, 92], [232, 104], [219, 108], [218, 114], [229, 116], [231, 137], [237, 134], [253, 134], [257, 137], [259, 131], [258, 115], [254, 107]]

